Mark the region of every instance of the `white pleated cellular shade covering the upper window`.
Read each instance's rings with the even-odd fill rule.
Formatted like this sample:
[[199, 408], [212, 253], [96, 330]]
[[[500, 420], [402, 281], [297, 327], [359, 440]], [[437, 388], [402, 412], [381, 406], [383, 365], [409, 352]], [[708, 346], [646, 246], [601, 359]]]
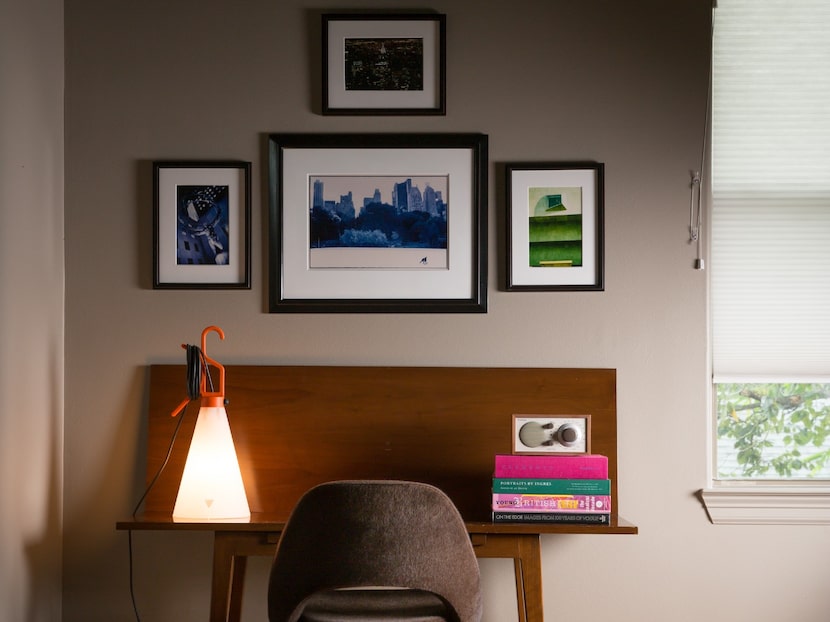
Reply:
[[718, 0], [715, 381], [830, 376], [830, 2]]

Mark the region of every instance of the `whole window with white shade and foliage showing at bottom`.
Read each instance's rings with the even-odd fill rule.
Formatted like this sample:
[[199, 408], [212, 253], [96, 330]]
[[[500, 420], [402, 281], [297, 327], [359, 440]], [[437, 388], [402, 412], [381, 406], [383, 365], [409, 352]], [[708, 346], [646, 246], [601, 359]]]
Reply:
[[830, 3], [713, 24], [713, 479], [830, 491]]

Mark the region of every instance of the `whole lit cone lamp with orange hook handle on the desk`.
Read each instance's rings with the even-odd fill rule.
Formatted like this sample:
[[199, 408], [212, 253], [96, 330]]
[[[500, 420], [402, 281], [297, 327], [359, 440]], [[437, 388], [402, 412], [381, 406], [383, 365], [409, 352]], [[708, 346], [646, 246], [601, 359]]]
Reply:
[[[193, 362], [188, 352], [188, 382], [196, 384], [198, 378], [200, 408], [173, 508], [174, 521], [217, 522], [251, 517], [225, 411], [225, 368], [205, 354], [205, 340], [210, 332], [216, 332], [220, 339], [225, 338], [221, 328], [208, 326], [202, 331], [199, 360]], [[193, 368], [193, 365], [198, 367]], [[213, 391], [213, 386], [211, 391], [207, 390], [209, 366], [219, 370], [218, 391]], [[179, 414], [189, 401], [182, 402], [173, 411], [173, 416]]]

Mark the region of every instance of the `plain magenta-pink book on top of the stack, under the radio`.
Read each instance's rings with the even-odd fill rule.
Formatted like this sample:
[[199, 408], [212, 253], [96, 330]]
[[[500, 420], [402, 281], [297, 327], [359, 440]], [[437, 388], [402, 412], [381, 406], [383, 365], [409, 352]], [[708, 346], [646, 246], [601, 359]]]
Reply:
[[494, 477], [608, 479], [608, 456], [519, 456], [497, 454]]

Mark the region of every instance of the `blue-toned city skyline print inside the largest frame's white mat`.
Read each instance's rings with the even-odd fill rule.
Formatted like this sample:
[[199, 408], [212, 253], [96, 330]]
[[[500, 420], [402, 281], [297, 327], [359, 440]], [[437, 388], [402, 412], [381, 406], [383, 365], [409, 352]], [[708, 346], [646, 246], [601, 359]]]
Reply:
[[448, 195], [447, 176], [309, 176], [309, 266], [446, 269]]

